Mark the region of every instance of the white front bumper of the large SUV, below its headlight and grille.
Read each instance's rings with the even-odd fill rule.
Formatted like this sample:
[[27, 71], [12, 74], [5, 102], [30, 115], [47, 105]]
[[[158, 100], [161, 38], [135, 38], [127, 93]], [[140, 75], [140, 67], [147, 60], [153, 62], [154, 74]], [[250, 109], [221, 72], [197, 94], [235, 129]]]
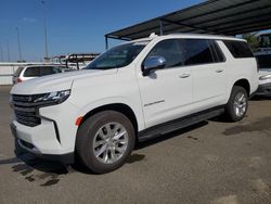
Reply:
[[[13, 106], [14, 113], [18, 110], [17, 107]], [[20, 109], [24, 111], [25, 107]], [[34, 126], [21, 122], [18, 115], [13, 114], [11, 129], [18, 144], [39, 157], [73, 162], [78, 128], [75, 120], [78, 109], [68, 101], [35, 109], [35, 117], [39, 120]], [[31, 118], [33, 114], [35, 113], [31, 112]], [[24, 119], [24, 117], [22, 118]]]

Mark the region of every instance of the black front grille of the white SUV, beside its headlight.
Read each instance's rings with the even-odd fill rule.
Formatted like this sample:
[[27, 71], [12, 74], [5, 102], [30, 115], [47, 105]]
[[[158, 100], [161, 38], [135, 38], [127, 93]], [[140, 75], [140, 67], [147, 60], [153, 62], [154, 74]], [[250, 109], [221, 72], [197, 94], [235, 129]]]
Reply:
[[12, 95], [12, 103], [17, 123], [25, 126], [35, 127], [41, 124], [41, 119], [37, 116], [37, 106], [34, 100], [35, 95]]

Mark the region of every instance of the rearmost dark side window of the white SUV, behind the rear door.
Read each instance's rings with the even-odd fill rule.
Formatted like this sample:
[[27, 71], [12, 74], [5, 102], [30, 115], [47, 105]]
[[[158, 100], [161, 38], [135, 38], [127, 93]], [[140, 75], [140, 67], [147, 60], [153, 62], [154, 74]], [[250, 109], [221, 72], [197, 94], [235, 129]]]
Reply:
[[235, 59], [254, 58], [248, 44], [244, 41], [223, 40], [227, 48]]

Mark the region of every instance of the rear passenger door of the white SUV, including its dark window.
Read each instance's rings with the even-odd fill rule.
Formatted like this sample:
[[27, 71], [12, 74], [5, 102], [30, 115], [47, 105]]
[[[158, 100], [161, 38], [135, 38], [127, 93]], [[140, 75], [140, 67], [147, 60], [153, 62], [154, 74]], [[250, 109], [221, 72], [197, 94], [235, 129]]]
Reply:
[[184, 65], [193, 73], [194, 105], [197, 111], [219, 105], [224, 100], [224, 56], [215, 40], [183, 39]]

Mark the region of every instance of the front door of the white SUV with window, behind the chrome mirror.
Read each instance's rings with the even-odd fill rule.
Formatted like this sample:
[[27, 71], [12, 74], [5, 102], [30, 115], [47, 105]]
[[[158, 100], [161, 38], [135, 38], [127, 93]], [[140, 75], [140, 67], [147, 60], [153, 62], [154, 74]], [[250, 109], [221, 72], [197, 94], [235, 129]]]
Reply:
[[191, 67], [182, 66], [182, 50], [178, 39], [158, 42], [147, 56], [166, 59], [165, 68], [138, 77], [145, 125], [152, 127], [191, 111], [193, 75]]

